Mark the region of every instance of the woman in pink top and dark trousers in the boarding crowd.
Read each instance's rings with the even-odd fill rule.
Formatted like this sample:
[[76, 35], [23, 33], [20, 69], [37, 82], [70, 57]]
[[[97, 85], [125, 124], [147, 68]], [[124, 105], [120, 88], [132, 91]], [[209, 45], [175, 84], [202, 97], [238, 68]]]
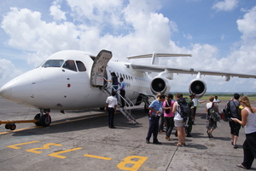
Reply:
[[166, 140], [171, 140], [172, 129], [174, 128], [172, 107], [174, 104], [173, 95], [168, 94], [168, 99], [163, 103], [164, 117], [166, 122]]

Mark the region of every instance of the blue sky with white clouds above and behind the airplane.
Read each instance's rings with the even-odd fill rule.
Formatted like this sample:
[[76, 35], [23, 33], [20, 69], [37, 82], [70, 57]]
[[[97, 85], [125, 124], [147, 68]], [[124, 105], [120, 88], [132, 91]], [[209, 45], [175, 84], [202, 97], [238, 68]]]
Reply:
[[[156, 53], [192, 54], [160, 65], [255, 74], [255, 0], [1, 0], [0, 86], [67, 49], [113, 59]], [[171, 91], [187, 92], [195, 75], [174, 75]], [[207, 92], [256, 92], [253, 78], [201, 77]]]

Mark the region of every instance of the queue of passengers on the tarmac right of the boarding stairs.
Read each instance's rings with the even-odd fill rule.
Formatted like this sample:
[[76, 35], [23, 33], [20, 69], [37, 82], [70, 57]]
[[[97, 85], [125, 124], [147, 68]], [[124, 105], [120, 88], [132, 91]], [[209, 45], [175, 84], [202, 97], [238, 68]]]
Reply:
[[[191, 113], [186, 119], [181, 117], [181, 107], [177, 100], [183, 98], [183, 94], [176, 94], [175, 100], [173, 95], [157, 94], [157, 99], [154, 100], [148, 107], [149, 109], [149, 128], [146, 137], [146, 143], [150, 143], [151, 135], [153, 134], [153, 144], [161, 144], [157, 139], [158, 134], [166, 132], [166, 140], [171, 140], [170, 136], [174, 126], [177, 128], [177, 146], [186, 145], [185, 137], [191, 137], [192, 125], [195, 123], [196, 107], [200, 103], [206, 102], [195, 99], [195, 94], [189, 95], [190, 100], [187, 98], [186, 102], [189, 104]], [[212, 132], [217, 128], [217, 121], [212, 118], [209, 109], [218, 109], [218, 96], [210, 96], [209, 102], [206, 105], [207, 112], [207, 135], [208, 138], [213, 138]], [[195, 105], [196, 103], [196, 105]], [[241, 109], [241, 116], [238, 110]], [[238, 148], [236, 145], [239, 130], [241, 126], [245, 127], [246, 140], [243, 143], [244, 158], [241, 164], [236, 165], [239, 168], [251, 168], [254, 158], [256, 159], [256, 108], [252, 107], [247, 96], [240, 98], [239, 94], [234, 94], [234, 97], [228, 101], [226, 110], [229, 110], [229, 124], [230, 124], [230, 137], [231, 144], [234, 149]], [[159, 123], [160, 122], [160, 123]], [[163, 130], [164, 123], [166, 124], [166, 131]]]

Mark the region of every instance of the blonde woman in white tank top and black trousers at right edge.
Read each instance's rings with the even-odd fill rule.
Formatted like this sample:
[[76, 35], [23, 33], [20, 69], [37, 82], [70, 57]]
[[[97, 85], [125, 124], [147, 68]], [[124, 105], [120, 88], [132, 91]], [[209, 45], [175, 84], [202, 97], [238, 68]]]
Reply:
[[244, 127], [246, 140], [244, 141], [243, 148], [243, 162], [237, 164], [239, 168], [250, 169], [254, 159], [256, 159], [256, 108], [251, 107], [250, 101], [247, 96], [242, 96], [239, 100], [240, 105], [244, 107], [241, 111], [241, 120], [231, 118], [233, 121], [240, 123]]

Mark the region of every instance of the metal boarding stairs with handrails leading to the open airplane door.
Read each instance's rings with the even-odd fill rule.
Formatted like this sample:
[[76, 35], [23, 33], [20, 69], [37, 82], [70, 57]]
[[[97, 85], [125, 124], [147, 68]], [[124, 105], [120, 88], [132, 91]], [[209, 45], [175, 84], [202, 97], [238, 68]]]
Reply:
[[[108, 81], [106, 80], [106, 78], [104, 78], [105, 81], [107, 82], [103, 87], [102, 90], [108, 94], [111, 95], [111, 91], [112, 91], [112, 83], [108, 83]], [[110, 90], [110, 91], [109, 91]], [[132, 124], [137, 124], [136, 118], [134, 115], [131, 114], [131, 106], [134, 106], [134, 104], [131, 102], [131, 100], [129, 98], [127, 98], [125, 96], [125, 98], [123, 98], [119, 92], [116, 92], [119, 96], [119, 100], [118, 100], [118, 105], [117, 105], [117, 109], [126, 117], [126, 119], [128, 119], [128, 121]], [[121, 99], [123, 99], [125, 101], [125, 106], [124, 107], [120, 107], [121, 104]]]

